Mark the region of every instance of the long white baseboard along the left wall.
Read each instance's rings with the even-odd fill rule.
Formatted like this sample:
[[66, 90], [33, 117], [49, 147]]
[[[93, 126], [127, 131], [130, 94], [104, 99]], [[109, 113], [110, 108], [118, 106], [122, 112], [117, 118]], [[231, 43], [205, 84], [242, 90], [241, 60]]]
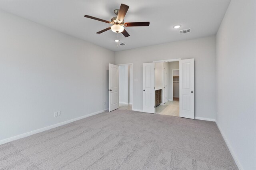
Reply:
[[17, 140], [17, 139], [20, 139], [20, 138], [24, 138], [24, 137], [27, 137], [27, 136], [30, 136], [32, 134], [36, 134], [36, 133], [39, 133], [39, 132], [43, 132], [45, 130], [49, 130], [49, 129], [52, 129], [52, 128], [56, 128], [56, 127], [59, 127], [59, 126], [62, 126], [62, 125], [66, 125], [68, 123], [71, 123], [71, 122], [74, 122], [74, 121], [78, 121], [80, 119], [84, 119], [86, 117], [90, 117], [90, 116], [93, 116], [93, 115], [97, 115], [99, 113], [102, 113], [104, 112], [105, 110], [107, 109], [104, 109], [102, 111], [98, 111], [98, 112], [94, 112], [94, 113], [90, 113], [88, 115], [84, 115], [84, 116], [81, 116], [81, 117], [77, 117], [75, 119], [70, 119], [68, 121], [64, 121], [64, 122], [61, 122], [61, 123], [57, 123], [57, 124], [54, 124], [54, 125], [50, 125], [48, 127], [43, 127], [43, 128], [40, 128], [40, 129], [36, 129], [36, 130], [33, 130], [33, 131], [30, 131], [30, 132], [26, 132], [26, 133], [23, 133], [23, 134], [19, 134], [17, 136], [13, 136], [13, 137], [10, 137], [10, 138], [6, 138], [6, 139], [3, 139], [3, 140], [0, 140], [0, 145], [1, 144], [4, 144], [4, 143], [7, 143], [7, 142], [11, 142], [13, 140]]

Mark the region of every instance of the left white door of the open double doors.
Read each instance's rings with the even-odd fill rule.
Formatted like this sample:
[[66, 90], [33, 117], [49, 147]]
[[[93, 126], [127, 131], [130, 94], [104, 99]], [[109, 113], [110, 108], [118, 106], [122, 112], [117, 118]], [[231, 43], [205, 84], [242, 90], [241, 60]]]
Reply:
[[155, 113], [155, 63], [143, 63], [143, 112]]

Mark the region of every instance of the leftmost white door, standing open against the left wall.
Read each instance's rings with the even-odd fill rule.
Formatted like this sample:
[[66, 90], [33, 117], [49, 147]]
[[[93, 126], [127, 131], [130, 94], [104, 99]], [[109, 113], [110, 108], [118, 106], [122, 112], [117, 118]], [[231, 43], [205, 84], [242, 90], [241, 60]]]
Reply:
[[118, 65], [108, 64], [108, 110], [119, 108], [119, 69]]

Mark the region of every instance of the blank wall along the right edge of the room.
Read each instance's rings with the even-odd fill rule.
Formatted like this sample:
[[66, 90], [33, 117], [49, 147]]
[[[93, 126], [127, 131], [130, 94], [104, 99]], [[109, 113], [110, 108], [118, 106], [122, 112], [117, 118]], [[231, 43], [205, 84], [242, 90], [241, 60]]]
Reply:
[[256, 1], [231, 0], [217, 33], [217, 124], [240, 169], [256, 169]]

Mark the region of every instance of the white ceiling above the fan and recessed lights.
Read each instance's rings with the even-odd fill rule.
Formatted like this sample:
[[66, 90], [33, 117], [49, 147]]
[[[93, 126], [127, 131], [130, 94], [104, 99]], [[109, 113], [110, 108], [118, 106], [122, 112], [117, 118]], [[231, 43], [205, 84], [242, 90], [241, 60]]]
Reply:
[[[0, 0], [0, 9], [81, 38], [112, 51], [200, 38], [216, 34], [230, 0]], [[110, 24], [84, 18], [90, 15], [104, 20], [115, 16], [120, 4], [130, 6], [124, 22], [150, 22], [149, 27], [126, 27], [130, 37], [119, 35], [124, 46], [116, 47], [116, 33]], [[191, 28], [188, 34], [178, 30]]]

